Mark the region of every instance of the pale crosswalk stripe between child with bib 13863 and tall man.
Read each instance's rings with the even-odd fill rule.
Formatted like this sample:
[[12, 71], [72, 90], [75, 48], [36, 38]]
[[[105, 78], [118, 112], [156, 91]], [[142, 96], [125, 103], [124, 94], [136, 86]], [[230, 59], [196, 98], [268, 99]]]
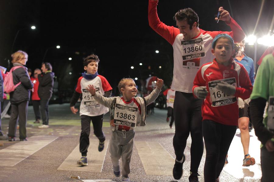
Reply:
[[146, 174], [172, 176], [175, 159], [158, 142], [135, 141]]

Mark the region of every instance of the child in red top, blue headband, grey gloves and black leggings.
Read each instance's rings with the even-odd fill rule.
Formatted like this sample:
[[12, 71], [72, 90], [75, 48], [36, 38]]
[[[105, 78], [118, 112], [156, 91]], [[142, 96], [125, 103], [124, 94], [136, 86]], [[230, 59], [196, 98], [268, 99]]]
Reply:
[[212, 42], [213, 62], [201, 66], [194, 79], [194, 96], [202, 104], [206, 145], [205, 182], [219, 181], [227, 151], [237, 129], [238, 97], [249, 98], [252, 85], [244, 66], [235, 62], [234, 41], [219, 34]]

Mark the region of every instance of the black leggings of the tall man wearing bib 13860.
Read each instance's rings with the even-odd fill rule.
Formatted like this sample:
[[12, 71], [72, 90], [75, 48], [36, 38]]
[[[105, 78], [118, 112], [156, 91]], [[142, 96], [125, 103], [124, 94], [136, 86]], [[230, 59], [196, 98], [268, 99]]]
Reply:
[[175, 92], [175, 135], [173, 138], [173, 147], [176, 159], [181, 160], [190, 132], [192, 140], [190, 148], [190, 171], [192, 173], [198, 172], [204, 150], [201, 116], [202, 102], [202, 99], [194, 98], [192, 93]]

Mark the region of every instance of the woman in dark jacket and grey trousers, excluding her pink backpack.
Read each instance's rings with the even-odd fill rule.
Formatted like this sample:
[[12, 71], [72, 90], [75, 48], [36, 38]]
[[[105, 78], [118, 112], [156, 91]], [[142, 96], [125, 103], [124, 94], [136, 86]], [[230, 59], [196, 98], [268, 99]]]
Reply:
[[27, 68], [25, 67], [28, 60], [28, 54], [24, 51], [17, 51], [12, 54], [13, 66], [22, 66], [12, 72], [13, 83], [16, 85], [21, 82], [16, 89], [10, 93], [11, 116], [9, 119], [9, 141], [15, 141], [17, 120], [19, 121], [19, 138], [20, 141], [27, 141], [26, 138], [26, 121], [28, 113], [28, 103], [30, 100], [30, 89], [33, 83], [30, 81]]

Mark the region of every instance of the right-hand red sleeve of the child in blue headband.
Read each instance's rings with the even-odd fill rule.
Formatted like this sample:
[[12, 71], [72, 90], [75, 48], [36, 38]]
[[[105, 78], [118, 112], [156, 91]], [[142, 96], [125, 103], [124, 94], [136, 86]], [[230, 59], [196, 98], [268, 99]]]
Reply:
[[[240, 65], [240, 64], [239, 64]], [[239, 85], [240, 87], [236, 88], [235, 96], [241, 97], [242, 99], [248, 99], [252, 92], [252, 84], [248, 76], [248, 72], [244, 68], [244, 66], [241, 66], [241, 71], [239, 75]]]

